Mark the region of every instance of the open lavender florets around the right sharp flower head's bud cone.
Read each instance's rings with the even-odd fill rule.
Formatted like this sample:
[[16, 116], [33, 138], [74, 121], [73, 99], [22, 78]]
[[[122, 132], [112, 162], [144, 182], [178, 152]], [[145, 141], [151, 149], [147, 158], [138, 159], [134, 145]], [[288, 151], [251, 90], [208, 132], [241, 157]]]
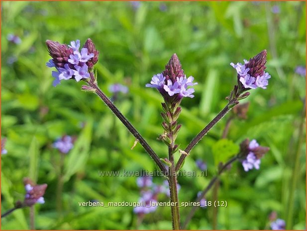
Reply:
[[241, 63], [230, 63], [230, 65], [237, 71], [238, 79], [245, 88], [255, 89], [261, 87], [266, 89], [266, 86], [269, 84], [268, 79], [271, 76], [269, 73], [264, 72], [265, 67], [261, 67], [260, 70], [257, 71], [254, 71], [253, 68], [249, 68], [249, 66], [254, 66], [250, 65], [252, 60], [254, 60], [254, 58], [250, 61], [244, 60], [244, 65]]

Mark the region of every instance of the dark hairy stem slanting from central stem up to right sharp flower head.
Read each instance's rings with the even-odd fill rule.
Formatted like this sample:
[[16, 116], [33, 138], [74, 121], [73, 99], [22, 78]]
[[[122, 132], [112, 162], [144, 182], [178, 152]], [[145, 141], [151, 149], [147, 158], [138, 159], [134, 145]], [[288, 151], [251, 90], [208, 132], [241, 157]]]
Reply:
[[[190, 153], [190, 151], [194, 148], [194, 146], [206, 135], [206, 133], [221, 119], [223, 116], [230, 110], [229, 104], [227, 104], [223, 110], [221, 110], [217, 116], [207, 125], [205, 128], [191, 141], [191, 143], [187, 146], [185, 149], [185, 152], [187, 154]], [[187, 157], [187, 154], [181, 154], [177, 164], [176, 164], [176, 171], [178, 171], [181, 168], [181, 165], [185, 158]]]

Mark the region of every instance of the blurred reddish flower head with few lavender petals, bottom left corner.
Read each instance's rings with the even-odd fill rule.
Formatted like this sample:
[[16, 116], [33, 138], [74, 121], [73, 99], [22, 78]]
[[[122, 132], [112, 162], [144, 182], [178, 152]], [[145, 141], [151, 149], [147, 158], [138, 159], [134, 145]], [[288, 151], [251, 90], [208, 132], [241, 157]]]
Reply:
[[45, 203], [43, 196], [45, 194], [47, 184], [36, 185], [29, 178], [25, 178], [23, 180], [23, 184], [26, 191], [23, 201], [25, 206], [32, 206], [36, 203], [38, 204]]

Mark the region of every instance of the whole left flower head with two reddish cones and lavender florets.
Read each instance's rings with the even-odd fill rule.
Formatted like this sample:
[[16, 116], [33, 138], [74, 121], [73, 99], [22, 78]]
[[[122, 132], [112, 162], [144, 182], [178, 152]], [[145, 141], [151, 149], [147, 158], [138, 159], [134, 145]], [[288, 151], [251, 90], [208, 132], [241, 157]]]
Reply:
[[99, 55], [91, 39], [87, 40], [81, 53], [79, 51], [80, 40], [72, 41], [68, 46], [51, 40], [47, 40], [46, 44], [52, 57], [46, 66], [55, 67], [58, 71], [52, 72], [55, 78], [53, 86], [59, 84], [62, 79], [74, 78], [78, 82], [90, 77], [89, 68], [93, 68], [97, 63]]

